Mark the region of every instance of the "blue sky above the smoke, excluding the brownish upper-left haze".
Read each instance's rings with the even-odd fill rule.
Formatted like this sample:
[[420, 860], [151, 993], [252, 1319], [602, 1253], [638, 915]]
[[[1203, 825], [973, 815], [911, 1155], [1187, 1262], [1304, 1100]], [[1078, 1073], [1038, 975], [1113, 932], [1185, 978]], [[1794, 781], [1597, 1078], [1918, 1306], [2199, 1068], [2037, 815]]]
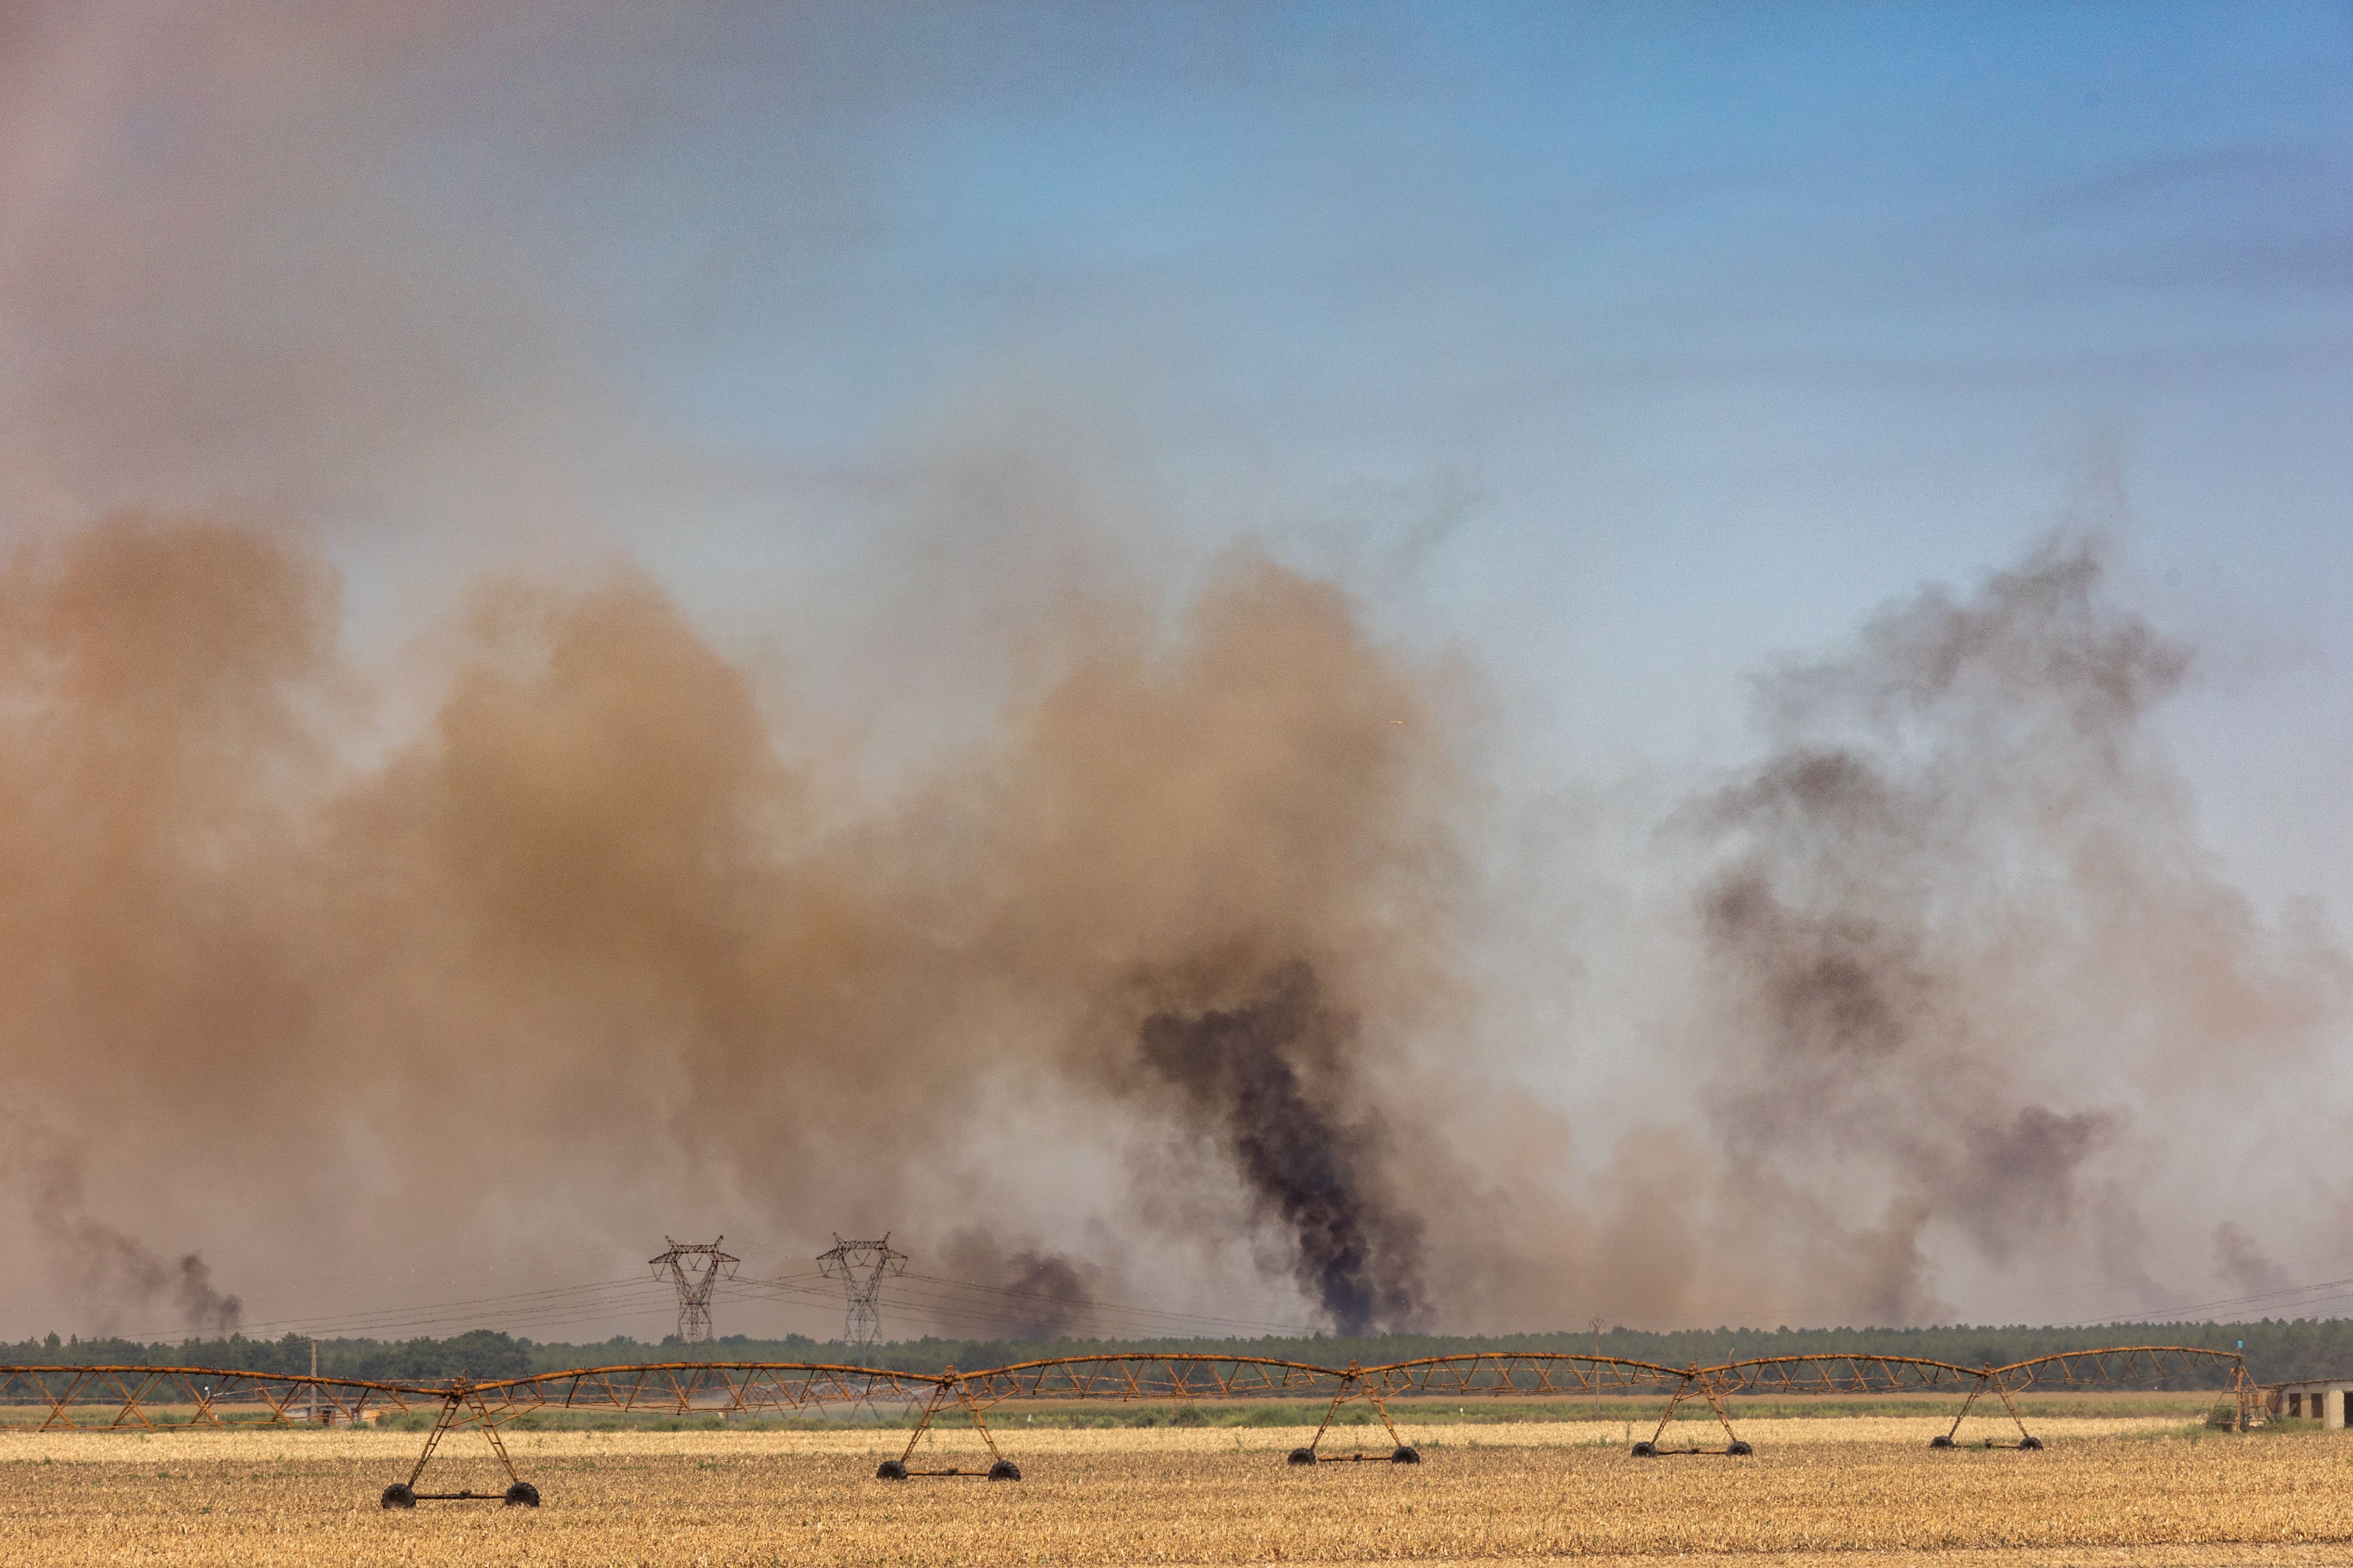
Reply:
[[[807, 477], [1002, 404], [1092, 428], [1158, 527], [1346, 557], [1468, 639], [1534, 776], [1720, 745], [1772, 651], [2094, 522], [2212, 644], [2217, 832], [2353, 891], [2257, 842], [2278, 773], [2346, 762], [2346, 7], [1014, 7], [666, 47], [680, 122], [539, 216], [689, 442]], [[713, 508], [682, 590], [795, 559], [772, 517]], [[2327, 722], [2285, 736], [2282, 691]]]

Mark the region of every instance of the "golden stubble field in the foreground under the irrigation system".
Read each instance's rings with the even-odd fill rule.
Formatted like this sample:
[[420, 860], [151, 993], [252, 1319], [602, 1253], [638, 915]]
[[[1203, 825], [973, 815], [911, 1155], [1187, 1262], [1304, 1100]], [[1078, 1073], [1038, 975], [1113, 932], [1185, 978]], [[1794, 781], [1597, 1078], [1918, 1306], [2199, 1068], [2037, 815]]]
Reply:
[[[1965, 1441], [1991, 1436], [1972, 1422]], [[518, 1432], [541, 1509], [384, 1512], [400, 1432], [0, 1434], [5, 1563], [1842, 1563], [2353, 1561], [2353, 1436], [2049, 1420], [2045, 1453], [1939, 1422], [1744, 1422], [1751, 1460], [1631, 1460], [1624, 1427], [1412, 1427], [1419, 1467], [1292, 1469], [1292, 1429], [1009, 1427], [1019, 1483], [873, 1479], [885, 1432]], [[2174, 1427], [2177, 1429], [2177, 1427]], [[1704, 1427], [1685, 1427], [1706, 1439]], [[1353, 1446], [1358, 1432], [1341, 1441]], [[904, 1439], [901, 1439], [904, 1441]], [[1384, 1439], [1386, 1441], [1386, 1439]], [[984, 1458], [944, 1432], [932, 1462]], [[454, 1434], [433, 1490], [504, 1486]]]

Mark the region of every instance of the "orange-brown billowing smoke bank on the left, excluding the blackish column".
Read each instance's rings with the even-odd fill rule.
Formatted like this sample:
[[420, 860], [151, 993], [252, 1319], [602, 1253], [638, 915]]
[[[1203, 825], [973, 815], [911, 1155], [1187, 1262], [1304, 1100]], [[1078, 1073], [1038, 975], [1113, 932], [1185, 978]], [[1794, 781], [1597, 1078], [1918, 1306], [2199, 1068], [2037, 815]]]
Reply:
[[[1240, 1180], [1202, 1201], [1282, 1276], [1311, 1239], [1268, 1197], [1282, 1161], [1186, 1110], [1144, 1020], [1313, 966], [1367, 1020], [1313, 1103], [1369, 1126], [1355, 1053], [1402, 1072], [1457, 1006], [1435, 677], [1264, 559], [824, 827], [744, 672], [640, 576], [489, 583], [456, 637], [424, 733], [353, 762], [360, 677], [313, 555], [115, 517], [0, 578], [16, 1105], [188, 1171], [212, 1234], [612, 1234], [640, 1182], [812, 1232], [904, 1232], [922, 1201], [944, 1232], [988, 1204], [944, 1213], [941, 1159], [1080, 1100], [1200, 1140], [1207, 1182], [1158, 1145], [1132, 1164]], [[1339, 1201], [1388, 1213], [1409, 1140], [1384, 1147]]]

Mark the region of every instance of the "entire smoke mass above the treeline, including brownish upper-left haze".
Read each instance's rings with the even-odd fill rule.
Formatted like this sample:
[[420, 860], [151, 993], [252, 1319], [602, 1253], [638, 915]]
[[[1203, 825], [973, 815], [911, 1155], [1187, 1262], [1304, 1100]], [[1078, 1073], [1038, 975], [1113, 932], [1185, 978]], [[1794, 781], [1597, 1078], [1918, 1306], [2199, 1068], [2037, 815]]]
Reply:
[[[0, 12], [0, 1237], [47, 1279], [0, 1333], [718, 1232], [887, 1229], [998, 1293], [892, 1333], [1026, 1335], [2115, 1316], [2353, 1246], [2235, 1154], [2346, 959], [2200, 846], [2198, 651], [2113, 538], [1821, 628], [1746, 766], [1529, 802], [1393, 562], [1233, 541], [1019, 376], [819, 480], [661, 435], [496, 214], [645, 153], [678, 80], [614, 61], [694, 38], [584, 26], [482, 108], [520, 38]], [[791, 179], [809, 254], [873, 216]], [[739, 559], [739, 505], [807, 529]]]

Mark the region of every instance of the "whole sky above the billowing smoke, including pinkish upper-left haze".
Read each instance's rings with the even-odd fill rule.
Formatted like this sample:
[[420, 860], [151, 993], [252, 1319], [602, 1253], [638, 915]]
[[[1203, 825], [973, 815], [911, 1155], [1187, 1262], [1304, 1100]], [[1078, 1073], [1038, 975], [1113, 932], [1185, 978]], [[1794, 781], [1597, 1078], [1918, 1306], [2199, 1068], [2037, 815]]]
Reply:
[[1257, 541], [1464, 672], [1480, 853], [1640, 882], [1777, 658], [2094, 531], [2219, 879], [2353, 922], [2353, 7], [339, 16], [0, 5], [0, 536], [308, 541], [362, 663], [631, 557], [875, 790], [1068, 517], [1169, 602]]

